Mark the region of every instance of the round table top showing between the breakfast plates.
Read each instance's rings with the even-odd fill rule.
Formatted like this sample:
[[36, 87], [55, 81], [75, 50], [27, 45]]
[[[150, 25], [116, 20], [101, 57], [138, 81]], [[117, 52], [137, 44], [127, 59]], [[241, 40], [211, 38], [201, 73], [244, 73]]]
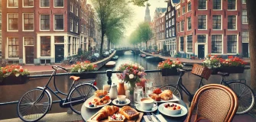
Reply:
[[[181, 104], [185, 108], [187, 108], [185, 102], [183, 100], [181, 100], [180, 98], [179, 98], [179, 100], [180, 101], [176, 101], [176, 103], [177, 104]], [[112, 105], [112, 104], [110, 104], [110, 105]], [[132, 98], [131, 98], [131, 103], [129, 105], [134, 108], [134, 101], [132, 100]], [[86, 105], [84, 103], [82, 108], [81, 108], [81, 116], [83, 118], [83, 121], [89, 120], [89, 118], [92, 117], [92, 115], [96, 114], [100, 109], [101, 108], [95, 108], [95, 109], [86, 108]], [[157, 110], [157, 111], [154, 111], [154, 114], [157, 115], [157, 114], [160, 114], [160, 112]], [[144, 113], [144, 115], [145, 115], [145, 113]], [[168, 116], [166, 116], [164, 114], [162, 114], [162, 116], [165, 118], [165, 120], [167, 120], [167, 122], [183, 122], [184, 120], [186, 120], [187, 114], [185, 116], [183, 116], [183, 117], [168, 117]], [[143, 117], [142, 117], [141, 121], [145, 122]]]

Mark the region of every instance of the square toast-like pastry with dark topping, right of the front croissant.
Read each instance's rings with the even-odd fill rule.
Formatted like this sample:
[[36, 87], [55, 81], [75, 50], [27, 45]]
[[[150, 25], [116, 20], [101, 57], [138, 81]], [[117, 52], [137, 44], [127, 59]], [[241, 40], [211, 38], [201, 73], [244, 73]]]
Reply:
[[124, 115], [128, 120], [134, 120], [135, 118], [138, 118], [139, 114], [138, 111], [136, 111], [134, 108], [131, 108], [130, 106], [124, 106], [120, 109], [120, 114]]

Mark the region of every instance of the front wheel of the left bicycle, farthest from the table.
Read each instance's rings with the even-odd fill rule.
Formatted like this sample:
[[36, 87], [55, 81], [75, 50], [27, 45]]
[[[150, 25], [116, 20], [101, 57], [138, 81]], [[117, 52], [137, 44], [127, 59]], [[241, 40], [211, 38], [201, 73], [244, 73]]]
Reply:
[[42, 95], [42, 92], [41, 89], [33, 89], [25, 93], [18, 101], [17, 113], [21, 120], [37, 121], [47, 114], [52, 103], [50, 95], [47, 92]]

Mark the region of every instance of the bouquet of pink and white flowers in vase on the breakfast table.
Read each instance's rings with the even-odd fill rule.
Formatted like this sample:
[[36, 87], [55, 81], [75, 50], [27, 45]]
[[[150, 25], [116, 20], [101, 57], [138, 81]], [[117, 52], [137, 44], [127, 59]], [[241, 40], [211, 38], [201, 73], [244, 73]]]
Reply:
[[117, 74], [118, 79], [129, 84], [128, 88], [131, 94], [134, 92], [136, 83], [140, 85], [141, 80], [145, 80], [144, 76], [147, 75], [144, 68], [138, 63], [124, 63], [119, 66], [118, 71], [122, 72]]

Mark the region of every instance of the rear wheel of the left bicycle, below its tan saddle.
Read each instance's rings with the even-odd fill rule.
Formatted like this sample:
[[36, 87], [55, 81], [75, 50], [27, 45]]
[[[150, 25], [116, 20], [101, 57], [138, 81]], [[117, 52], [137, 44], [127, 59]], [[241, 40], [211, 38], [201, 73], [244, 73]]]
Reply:
[[[89, 89], [91, 90], [89, 91]], [[96, 86], [90, 85], [89, 83], [78, 85], [76, 86], [76, 89], [73, 88], [68, 98], [70, 98], [70, 102], [71, 101], [78, 101], [78, 102], [74, 104], [70, 104], [71, 110], [74, 111], [76, 114], [81, 114], [81, 108], [83, 103], [88, 98], [92, 97], [92, 95], [94, 95], [94, 92], [96, 92], [97, 89], [98, 88], [96, 88]], [[88, 94], [87, 99], [83, 100], [83, 98], [86, 97], [87, 94]]]

